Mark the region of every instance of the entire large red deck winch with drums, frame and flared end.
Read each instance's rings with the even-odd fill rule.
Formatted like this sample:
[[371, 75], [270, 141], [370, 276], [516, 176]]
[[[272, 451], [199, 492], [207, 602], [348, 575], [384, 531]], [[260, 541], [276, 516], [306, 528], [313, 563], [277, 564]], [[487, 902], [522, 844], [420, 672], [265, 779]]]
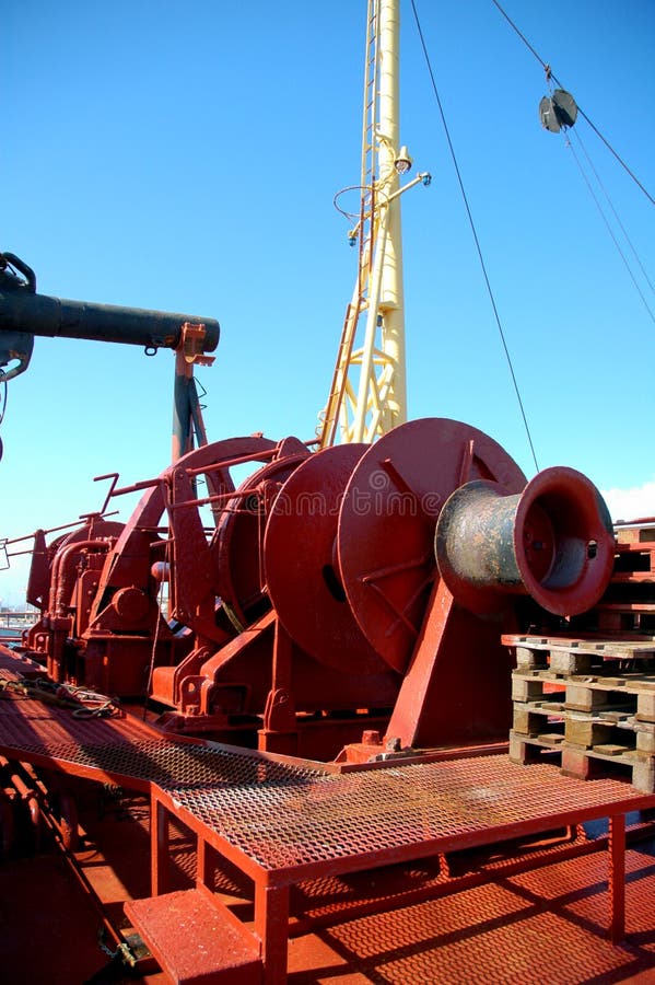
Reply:
[[49, 545], [36, 534], [26, 648], [57, 681], [148, 700], [165, 729], [264, 751], [505, 739], [502, 633], [590, 609], [613, 564], [588, 479], [558, 467], [526, 486], [447, 419], [317, 452], [218, 441], [133, 488], [125, 526], [90, 514]]

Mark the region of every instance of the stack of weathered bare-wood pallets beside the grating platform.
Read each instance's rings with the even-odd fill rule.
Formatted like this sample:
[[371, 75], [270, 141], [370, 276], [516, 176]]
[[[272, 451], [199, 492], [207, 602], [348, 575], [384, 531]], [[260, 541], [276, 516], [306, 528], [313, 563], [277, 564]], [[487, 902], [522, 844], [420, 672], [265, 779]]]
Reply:
[[628, 775], [655, 792], [655, 640], [504, 636], [516, 653], [510, 758], [562, 773]]

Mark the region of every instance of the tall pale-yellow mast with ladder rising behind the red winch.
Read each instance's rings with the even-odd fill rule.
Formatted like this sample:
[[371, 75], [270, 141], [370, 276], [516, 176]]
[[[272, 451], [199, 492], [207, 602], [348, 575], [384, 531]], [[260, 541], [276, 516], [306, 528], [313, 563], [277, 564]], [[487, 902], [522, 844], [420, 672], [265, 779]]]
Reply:
[[[354, 223], [349, 241], [358, 246], [358, 276], [321, 414], [321, 448], [371, 442], [407, 420], [400, 195], [419, 183], [430, 184], [431, 177], [418, 174], [400, 186], [412, 161], [399, 140], [399, 0], [369, 0], [367, 5], [359, 213], [339, 206], [353, 188], [335, 198]], [[364, 313], [363, 339], [356, 346]]]

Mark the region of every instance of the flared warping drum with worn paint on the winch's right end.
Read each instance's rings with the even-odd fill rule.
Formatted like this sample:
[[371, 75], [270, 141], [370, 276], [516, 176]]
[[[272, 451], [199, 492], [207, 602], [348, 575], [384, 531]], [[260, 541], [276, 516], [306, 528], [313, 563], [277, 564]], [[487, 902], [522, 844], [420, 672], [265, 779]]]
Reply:
[[472, 612], [506, 607], [511, 593], [527, 592], [549, 612], [576, 615], [607, 588], [615, 538], [596, 487], [560, 466], [521, 495], [480, 480], [457, 489], [440, 514], [435, 553], [446, 584]]

